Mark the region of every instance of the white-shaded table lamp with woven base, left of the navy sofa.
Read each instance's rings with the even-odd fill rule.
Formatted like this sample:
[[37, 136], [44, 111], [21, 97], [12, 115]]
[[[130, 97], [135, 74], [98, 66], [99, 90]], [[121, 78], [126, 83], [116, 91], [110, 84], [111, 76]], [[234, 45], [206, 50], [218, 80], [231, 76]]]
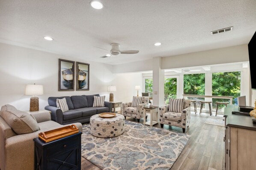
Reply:
[[32, 95], [30, 98], [30, 112], [39, 111], [39, 97], [43, 95], [43, 85], [27, 84], [25, 95]]

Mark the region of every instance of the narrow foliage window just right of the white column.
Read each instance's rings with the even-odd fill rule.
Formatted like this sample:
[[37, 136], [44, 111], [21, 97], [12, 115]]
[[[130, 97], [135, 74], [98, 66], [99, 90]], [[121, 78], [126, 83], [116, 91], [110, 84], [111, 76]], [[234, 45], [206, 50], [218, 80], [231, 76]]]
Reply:
[[177, 97], [177, 78], [164, 78], [164, 101], [169, 103], [170, 98]]

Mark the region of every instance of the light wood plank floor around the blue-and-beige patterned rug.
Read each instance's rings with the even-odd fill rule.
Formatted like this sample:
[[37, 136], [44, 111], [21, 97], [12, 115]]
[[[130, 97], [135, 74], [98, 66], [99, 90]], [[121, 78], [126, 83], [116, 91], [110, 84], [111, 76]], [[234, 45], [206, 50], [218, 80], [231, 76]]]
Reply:
[[[212, 116], [214, 116], [213, 114]], [[191, 111], [191, 122], [186, 134], [191, 135], [188, 144], [173, 164], [171, 170], [224, 170], [225, 169], [225, 128], [211, 124], [204, 124], [209, 113], [195, 114]], [[217, 115], [223, 117], [222, 115]], [[214, 116], [215, 117], [215, 116]], [[137, 119], [126, 117], [126, 120]], [[143, 119], [140, 120], [143, 123]], [[154, 127], [160, 127], [160, 124]], [[182, 128], [164, 125], [164, 129], [182, 133]], [[82, 157], [81, 170], [101, 170], [90, 161]]]

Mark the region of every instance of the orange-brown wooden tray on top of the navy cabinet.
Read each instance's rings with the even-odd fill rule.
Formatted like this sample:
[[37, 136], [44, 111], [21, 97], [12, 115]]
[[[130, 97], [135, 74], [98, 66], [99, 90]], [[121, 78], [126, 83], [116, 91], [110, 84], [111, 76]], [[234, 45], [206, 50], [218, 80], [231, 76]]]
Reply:
[[66, 127], [60, 127], [58, 129], [49, 130], [46, 132], [41, 132], [38, 134], [39, 138], [42, 139], [45, 142], [53, 141], [59, 138], [63, 138], [65, 136], [73, 135], [75, 133], [78, 133], [78, 128], [76, 125], [71, 124]]

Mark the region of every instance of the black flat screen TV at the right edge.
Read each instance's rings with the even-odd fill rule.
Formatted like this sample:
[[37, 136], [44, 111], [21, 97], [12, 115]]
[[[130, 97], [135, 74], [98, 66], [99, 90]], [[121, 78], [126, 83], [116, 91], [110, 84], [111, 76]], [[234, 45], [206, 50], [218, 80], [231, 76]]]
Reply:
[[[256, 68], [255, 68], [255, 64], [256, 64], [256, 62], [255, 62], [255, 59], [256, 59], [256, 32], [254, 33], [252, 39], [248, 43], [248, 52], [249, 52], [249, 62], [250, 62], [251, 86], [252, 86], [252, 89], [256, 89]], [[254, 62], [253, 62], [253, 60], [254, 60]]]

